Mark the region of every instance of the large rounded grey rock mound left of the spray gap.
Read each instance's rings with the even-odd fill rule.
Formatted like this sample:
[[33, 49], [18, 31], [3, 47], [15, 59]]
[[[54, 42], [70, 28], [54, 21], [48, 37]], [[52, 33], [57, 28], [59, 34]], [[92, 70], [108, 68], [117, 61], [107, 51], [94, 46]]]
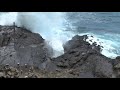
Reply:
[[39, 67], [50, 57], [45, 40], [36, 33], [13, 26], [0, 26], [0, 65]]

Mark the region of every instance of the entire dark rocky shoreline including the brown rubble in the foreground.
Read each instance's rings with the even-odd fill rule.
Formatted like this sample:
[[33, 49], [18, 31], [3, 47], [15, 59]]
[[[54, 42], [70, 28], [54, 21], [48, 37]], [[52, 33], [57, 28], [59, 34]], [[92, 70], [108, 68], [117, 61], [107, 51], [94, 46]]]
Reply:
[[120, 57], [101, 54], [101, 46], [74, 36], [64, 54], [52, 58], [52, 47], [37, 33], [17, 26], [0, 26], [1, 78], [119, 78]]

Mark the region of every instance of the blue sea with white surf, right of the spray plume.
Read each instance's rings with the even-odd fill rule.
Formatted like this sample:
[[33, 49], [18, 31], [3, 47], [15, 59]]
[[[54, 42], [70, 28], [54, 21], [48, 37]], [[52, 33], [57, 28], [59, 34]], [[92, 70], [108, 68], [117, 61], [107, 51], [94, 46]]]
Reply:
[[91, 34], [103, 42], [104, 55], [120, 55], [120, 12], [70, 12], [67, 19], [76, 34]]

